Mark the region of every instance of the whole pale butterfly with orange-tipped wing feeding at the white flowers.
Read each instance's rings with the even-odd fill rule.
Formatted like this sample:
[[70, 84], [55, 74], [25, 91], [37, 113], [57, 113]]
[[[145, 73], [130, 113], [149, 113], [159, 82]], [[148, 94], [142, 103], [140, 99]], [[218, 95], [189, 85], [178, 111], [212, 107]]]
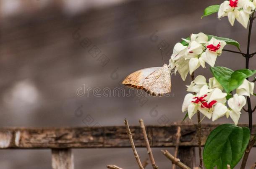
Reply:
[[171, 92], [171, 72], [167, 64], [162, 67], [144, 68], [127, 76], [123, 84], [159, 97]]

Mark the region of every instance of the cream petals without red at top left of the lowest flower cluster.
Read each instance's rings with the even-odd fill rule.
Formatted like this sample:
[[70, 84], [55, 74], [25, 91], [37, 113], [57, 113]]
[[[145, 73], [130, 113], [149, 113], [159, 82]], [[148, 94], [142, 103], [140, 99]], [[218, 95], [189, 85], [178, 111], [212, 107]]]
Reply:
[[191, 81], [190, 85], [187, 86], [187, 91], [198, 93], [200, 89], [206, 84], [206, 78], [204, 76], [196, 76], [195, 80]]

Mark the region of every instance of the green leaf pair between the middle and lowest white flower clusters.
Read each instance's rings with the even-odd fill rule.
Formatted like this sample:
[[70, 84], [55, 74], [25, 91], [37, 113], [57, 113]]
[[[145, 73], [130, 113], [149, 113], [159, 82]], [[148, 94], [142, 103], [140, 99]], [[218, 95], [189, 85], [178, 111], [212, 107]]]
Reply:
[[244, 81], [245, 78], [253, 76], [256, 70], [240, 69], [237, 71], [232, 71], [225, 67], [211, 67], [213, 76], [221, 84], [227, 93], [238, 88]]

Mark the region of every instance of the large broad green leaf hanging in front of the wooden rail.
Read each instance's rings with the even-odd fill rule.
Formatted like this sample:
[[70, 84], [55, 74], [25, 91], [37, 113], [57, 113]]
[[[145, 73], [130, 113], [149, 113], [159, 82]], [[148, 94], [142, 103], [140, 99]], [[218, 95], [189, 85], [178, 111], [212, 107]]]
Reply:
[[204, 166], [206, 169], [231, 169], [242, 158], [250, 140], [250, 130], [233, 124], [222, 124], [208, 136], [204, 145]]

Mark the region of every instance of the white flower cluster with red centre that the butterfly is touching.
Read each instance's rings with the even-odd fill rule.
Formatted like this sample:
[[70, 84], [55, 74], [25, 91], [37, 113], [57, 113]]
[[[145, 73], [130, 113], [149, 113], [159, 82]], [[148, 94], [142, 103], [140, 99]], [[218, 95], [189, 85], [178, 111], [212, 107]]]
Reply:
[[205, 63], [213, 67], [226, 45], [225, 41], [213, 37], [208, 41], [208, 36], [204, 33], [192, 34], [190, 39], [183, 39], [188, 46], [176, 43], [169, 61], [170, 69], [175, 68], [175, 74], [178, 71], [183, 81], [188, 72], [192, 74], [200, 66], [205, 68]]

